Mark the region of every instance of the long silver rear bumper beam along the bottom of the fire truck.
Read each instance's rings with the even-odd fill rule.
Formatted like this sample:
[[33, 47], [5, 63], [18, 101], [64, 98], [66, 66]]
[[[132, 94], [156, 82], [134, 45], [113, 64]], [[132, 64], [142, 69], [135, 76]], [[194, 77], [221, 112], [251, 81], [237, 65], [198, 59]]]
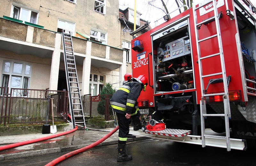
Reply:
[[[166, 130], [166, 129], [165, 129]], [[170, 130], [170, 129], [169, 129]], [[176, 130], [176, 129], [171, 129]], [[184, 130], [185, 131], [185, 130]], [[150, 133], [152, 132], [152, 133]], [[190, 143], [190, 144], [196, 144], [196, 145], [202, 145], [202, 136], [198, 135], [184, 135], [181, 137], [176, 137], [175, 135], [181, 135], [181, 133], [176, 133], [174, 136], [172, 136], [171, 133], [158, 133], [160, 131], [154, 132], [149, 131], [146, 133], [142, 130], [134, 131], [132, 128], [130, 130], [130, 134], [143, 136], [143, 137], [149, 137], [149, 138], [155, 138], [155, 139], [161, 139], [161, 140], [169, 140], [169, 141], [176, 141], [176, 142], [184, 142], [184, 143]], [[212, 138], [212, 137], [205, 137], [205, 145], [211, 146], [211, 147], [222, 147], [227, 148], [227, 140], [222, 138]], [[230, 148], [236, 149], [236, 150], [246, 150], [247, 144], [246, 140], [244, 139], [230, 139]]]

